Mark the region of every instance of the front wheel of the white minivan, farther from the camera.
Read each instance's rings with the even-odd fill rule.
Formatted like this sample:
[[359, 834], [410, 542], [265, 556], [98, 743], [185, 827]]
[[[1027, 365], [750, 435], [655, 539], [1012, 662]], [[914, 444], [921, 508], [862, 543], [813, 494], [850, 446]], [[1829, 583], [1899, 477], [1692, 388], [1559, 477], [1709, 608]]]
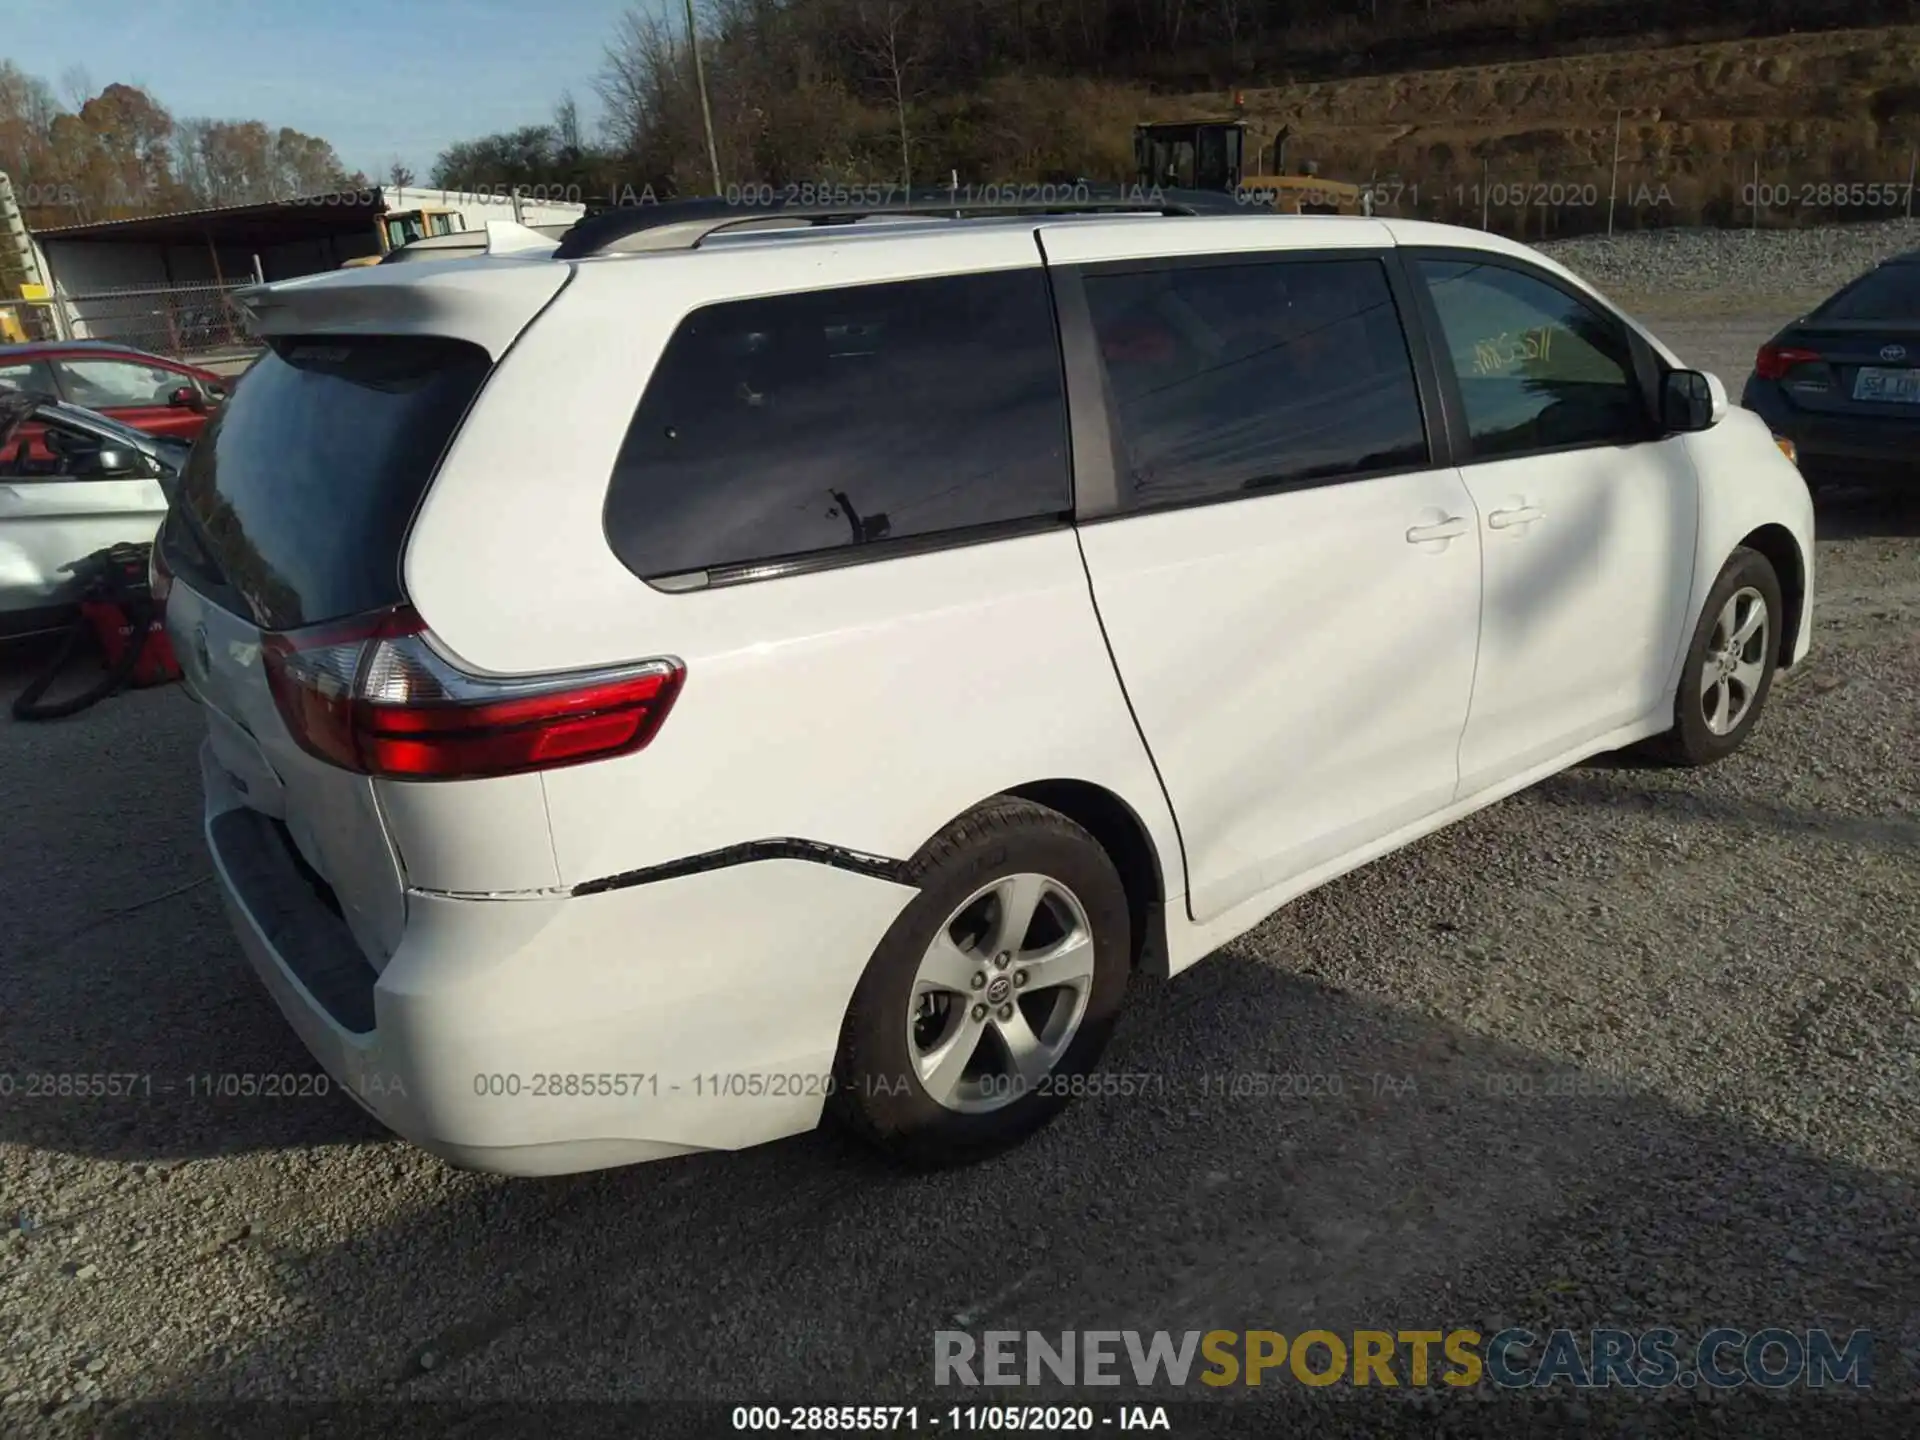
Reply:
[[1653, 741], [1661, 758], [1703, 766], [1745, 743], [1772, 691], [1784, 622], [1772, 561], [1736, 549], [1693, 628], [1674, 693], [1674, 728]]

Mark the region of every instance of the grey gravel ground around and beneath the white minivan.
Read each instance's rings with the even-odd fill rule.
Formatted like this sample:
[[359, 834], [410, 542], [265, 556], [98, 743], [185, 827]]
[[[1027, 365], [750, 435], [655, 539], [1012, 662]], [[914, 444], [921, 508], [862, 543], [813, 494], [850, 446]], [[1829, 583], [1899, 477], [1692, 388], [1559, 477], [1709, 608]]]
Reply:
[[[1738, 386], [1782, 317], [1649, 319]], [[812, 1135], [497, 1181], [338, 1096], [196, 1096], [311, 1062], [207, 881], [194, 707], [4, 726], [0, 1069], [156, 1092], [0, 1108], [0, 1432], [278, 1434], [156, 1405], [286, 1398], [945, 1405], [950, 1327], [1724, 1323], [1874, 1331], [1874, 1400], [1269, 1384], [1175, 1432], [1910, 1434], [1920, 499], [1824, 499], [1818, 564], [1814, 653], [1741, 755], [1584, 766], [1302, 899], [1140, 985], [1110, 1068], [1152, 1094], [937, 1177]], [[1340, 1094], [1200, 1094], [1238, 1071]], [[611, 1432], [538, 1423], [568, 1417]]]

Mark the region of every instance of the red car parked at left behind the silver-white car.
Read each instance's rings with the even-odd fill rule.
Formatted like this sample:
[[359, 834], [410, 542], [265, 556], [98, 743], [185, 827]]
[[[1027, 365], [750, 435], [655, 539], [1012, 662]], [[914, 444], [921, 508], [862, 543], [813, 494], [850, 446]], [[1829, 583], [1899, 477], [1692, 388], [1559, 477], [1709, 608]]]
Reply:
[[[0, 346], [0, 390], [29, 390], [98, 411], [134, 430], [192, 440], [232, 380], [108, 340]], [[21, 438], [33, 442], [21, 432]]]

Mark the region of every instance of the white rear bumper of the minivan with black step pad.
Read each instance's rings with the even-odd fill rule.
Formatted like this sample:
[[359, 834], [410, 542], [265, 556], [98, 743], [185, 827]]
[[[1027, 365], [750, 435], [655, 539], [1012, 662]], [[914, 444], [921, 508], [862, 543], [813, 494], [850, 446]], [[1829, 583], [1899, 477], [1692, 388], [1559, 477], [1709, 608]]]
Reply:
[[374, 973], [211, 749], [202, 778], [234, 931], [313, 1058], [388, 1129], [501, 1175], [812, 1129], [852, 989], [914, 895], [801, 860], [591, 897], [413, 891]]

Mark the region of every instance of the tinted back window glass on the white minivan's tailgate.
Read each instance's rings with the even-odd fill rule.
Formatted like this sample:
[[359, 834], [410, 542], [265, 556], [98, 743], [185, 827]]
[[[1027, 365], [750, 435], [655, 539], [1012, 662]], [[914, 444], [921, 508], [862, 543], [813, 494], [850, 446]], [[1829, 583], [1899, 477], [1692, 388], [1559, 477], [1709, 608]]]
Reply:
[[401, 599], [413, 513], [492, 361], [426, 336], [276, 340], [194, 444], [179, 501], [265, 630]]

